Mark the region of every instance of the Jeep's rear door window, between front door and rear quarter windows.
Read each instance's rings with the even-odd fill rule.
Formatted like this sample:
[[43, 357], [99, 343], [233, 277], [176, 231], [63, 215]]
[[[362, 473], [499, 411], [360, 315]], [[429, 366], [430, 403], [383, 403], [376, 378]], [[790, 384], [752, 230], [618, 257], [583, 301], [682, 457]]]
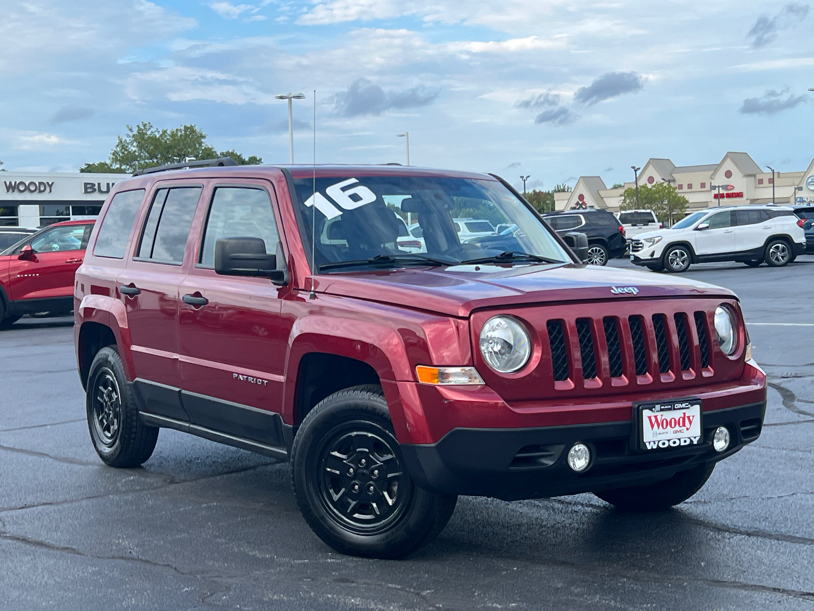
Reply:
[[136, 258], [157, 263], [182, 264], [200, 194], [201, 187], [155, 191]]

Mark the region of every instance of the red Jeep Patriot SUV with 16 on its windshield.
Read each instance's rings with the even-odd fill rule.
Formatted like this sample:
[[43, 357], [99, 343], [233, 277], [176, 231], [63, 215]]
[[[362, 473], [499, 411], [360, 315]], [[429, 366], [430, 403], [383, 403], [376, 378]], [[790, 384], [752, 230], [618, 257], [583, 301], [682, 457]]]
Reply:
[[[117, 182], [77, 271], [111, 466], [149, 459], [161, 427], [290, 460], [314, 532], [386, 558], [457, 495], [668, 508], [760, 434], [732, 292], [585, 266], [501, 178], [206, 163]], [[460, 217], [523, 231], [462, 244]]]

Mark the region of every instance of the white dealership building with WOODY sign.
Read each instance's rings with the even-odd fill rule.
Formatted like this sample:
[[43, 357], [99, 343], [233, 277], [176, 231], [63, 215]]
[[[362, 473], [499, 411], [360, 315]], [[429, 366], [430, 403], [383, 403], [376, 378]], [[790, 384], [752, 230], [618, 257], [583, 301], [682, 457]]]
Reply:
[[111, 187], [128, 176], [0, 172], [0, 226], [41, 227], [96, 218]]

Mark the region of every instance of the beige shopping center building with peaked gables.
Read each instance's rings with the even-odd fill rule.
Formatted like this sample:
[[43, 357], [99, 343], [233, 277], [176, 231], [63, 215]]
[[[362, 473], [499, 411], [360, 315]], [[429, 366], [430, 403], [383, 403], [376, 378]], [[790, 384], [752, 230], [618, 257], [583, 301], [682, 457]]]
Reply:
[[[814, 204], [814, 160], [803, 172], [775, 172], [773, 176], [745, 152], [728, 152], [720, 163], [708, 165], [676, 166], [669, 159], [648, 160], [639, 171], [639, 186], [662, 181], [687, 198], [688, 212], [717, 205]], [[587, 205], [616, 212], [624, 190], [631, 187], [636, 182], [609, 189], [599, 176], [581, 176], [573, 191], [554, 193], [554, 206], [568, 210]]]

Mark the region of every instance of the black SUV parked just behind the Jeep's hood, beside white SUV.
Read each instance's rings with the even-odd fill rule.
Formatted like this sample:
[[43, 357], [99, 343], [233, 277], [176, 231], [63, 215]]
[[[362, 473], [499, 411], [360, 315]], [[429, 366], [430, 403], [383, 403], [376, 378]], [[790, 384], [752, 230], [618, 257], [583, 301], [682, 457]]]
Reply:
[[561, 236], [569, 231], [579, 231], [588, 236], [588, 257], [585, 262], [589, 265], [604, 266], [608, 260], [624, 255], [627, 247], [624, 227], [607, 210], [563, 210], [541, 216]]

